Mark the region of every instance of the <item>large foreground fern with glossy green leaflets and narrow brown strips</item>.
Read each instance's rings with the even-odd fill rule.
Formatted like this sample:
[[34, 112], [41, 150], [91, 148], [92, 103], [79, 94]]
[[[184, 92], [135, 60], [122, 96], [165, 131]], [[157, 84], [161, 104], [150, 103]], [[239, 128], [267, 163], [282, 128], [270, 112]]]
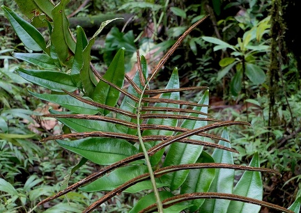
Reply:
[[[46, 16], [49, 42], [36, 27], [1, 6], [17, 36], [31, 50], [14, 56], [39, 67], [18, 68], [17, 72], [27, 81], [52, 91], [48, 94], [29, 90], [33, 96], [66, 109], [49, 110], [46, 115], [59, 120], [64, 133], [41, 141], [55, 140], [82, 157], [65, 177], [65, 189], [40, 201], [35, 208], [80, 189], [108, 191], [83, 212], [98, 209], [122, 192], [137, 191], [148, 194], [130, 212], [258, 212], [260, 206], [299, 212], [301, 198], [288, 209], [261, 201], [261, 172], [279, 173], [260, 168], [257, 153], [249, 166], [233, 164], [232, 153], [237, 151], [231, 148], [226, 127], [249, 124], [208, 116], [208, 88], [180, 88], [177, 68], [166, 88], [150, 88], [169, 56], [206, 17], [180, 36], [150, 74], [146, 59], [137, 52], [138, 70], [130, 79], [125, 74], [123, 48], [103, 76], [91, 63], [96, 36], [114, 19], [102, 23], [89, 40], [82, 27], [77, 26], [75, 39], [64, 13], [68, 0], [56, 6], [50, 1], [33, 2], [36, 10]], [[198, 103], [180, 100], [180, 92], [191, 90], [203, 90]], [[221, 136], [210, 134], [216, 128], [224, 128]], [[72, 174], [87, 161], [100, 165], [100, 170], [68, 187]], [[233, 187], [235, 170], [244, 172]]]

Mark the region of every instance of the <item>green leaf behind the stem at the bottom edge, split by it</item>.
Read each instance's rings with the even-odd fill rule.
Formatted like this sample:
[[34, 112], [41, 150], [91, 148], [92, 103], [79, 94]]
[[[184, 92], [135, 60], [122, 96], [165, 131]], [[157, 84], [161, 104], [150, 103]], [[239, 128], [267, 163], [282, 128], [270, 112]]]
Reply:
[[[172, 198], [173, 194], [169, 191], [159, 191], [159, 195], [161, 200], [167, 199], [167, 198]], [[137, 204], [130, 210], [129, 213], [137, 213], [143, 210], [144, 208], [153, 205], [156, 203], [155, 200], [155, 195], [153, 192], [150, 194], [142, 197]], [[176, 213], [176, 212], [181, 212], [182, 210], [185, 210], [187, 207], [190, 205], [187, 205], [185, 203], [178, 203], [176, 205], [172, 205], [171, 207], [168, 207], [167, 209], [164, 209], [164, 213]]]

